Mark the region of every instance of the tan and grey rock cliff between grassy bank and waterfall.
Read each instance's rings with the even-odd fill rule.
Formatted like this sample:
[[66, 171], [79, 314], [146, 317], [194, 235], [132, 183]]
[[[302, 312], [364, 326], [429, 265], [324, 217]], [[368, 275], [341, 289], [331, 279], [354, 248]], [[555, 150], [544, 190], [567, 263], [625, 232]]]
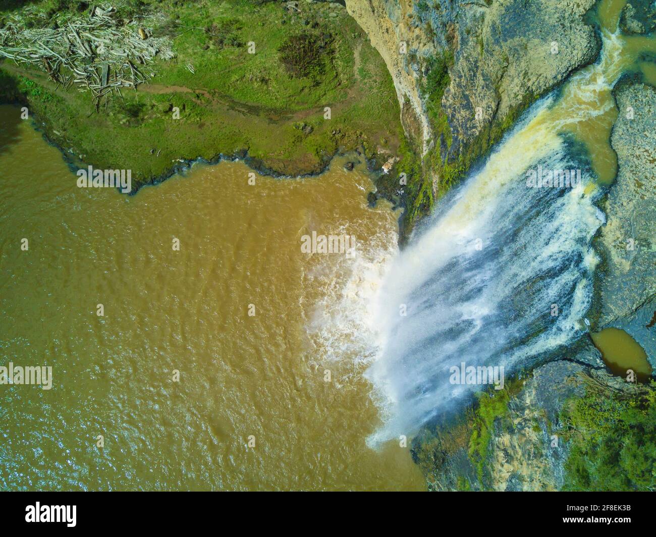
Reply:
[[[474, 149], [490, 131], [510, 126], [514, 114], [598, 54], [583, 15], [594, 0], [346, 0], [394, 79], [407, 135], [423, 154], [440, 150], [444, 162]], [[404, 45], [405, 43], [405, 45]], [[449, 83], [440, 103], [421, 88], [434, 57], [448, 58]], [[448, 129], [428, 113], [441, 107]], [[478, 156], [476, 154], [475, 156]], [[440, 177], [434, 177], [440, 181]]]

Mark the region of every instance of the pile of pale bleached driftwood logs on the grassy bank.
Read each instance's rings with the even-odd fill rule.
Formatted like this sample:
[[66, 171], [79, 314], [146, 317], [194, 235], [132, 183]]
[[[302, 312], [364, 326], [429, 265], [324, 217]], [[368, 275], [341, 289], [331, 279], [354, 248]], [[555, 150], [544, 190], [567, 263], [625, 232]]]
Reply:
[[89, 17], [60, 27], [26, 28], [20, 16], [9, 18], [0, 28], [2, 56], [45, 71], [58, 87], [90, 91], [97, 108], [114, 91], [121, 95], [122, 87], [136, 88], [153, 77], [148, 66], [155, 56], [169, 60], [174, 53], [166, 37], [153, 37], [133, 20], [117, 20], [112, 7], [94, 7]]

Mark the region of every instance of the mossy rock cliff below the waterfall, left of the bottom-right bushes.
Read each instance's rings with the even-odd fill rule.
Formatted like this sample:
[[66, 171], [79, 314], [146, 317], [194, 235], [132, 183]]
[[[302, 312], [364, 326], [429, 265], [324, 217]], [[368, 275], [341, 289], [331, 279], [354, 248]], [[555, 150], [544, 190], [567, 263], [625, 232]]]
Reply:
[[[573, 450], [580, 455], [581, 439], [594, 435], [595, 425], [607, 427], [617, 419], [603, 415], [609, 408], [615, 412], [612, 401], [630, 401], [629, 406], [637, 407], [653, 394], [653, 388], [627, 383], [604, 370], [565, 360], [550, 362], [533, 370], [499, 401], [501, 405], [490, 402], [500, 397], [498, 393], [485, 394], [478, 410], [457, 423], [426, 427], [413, 441], [413, 458], [424, 471], [429, 490], [577, 488], [567, 475], [567, 460]], [[590, 415], [590, 430], [573, 414], [582, 400], [598, 405]], [[485, 439], [482, 450], [476, 449], [478, 438]]]

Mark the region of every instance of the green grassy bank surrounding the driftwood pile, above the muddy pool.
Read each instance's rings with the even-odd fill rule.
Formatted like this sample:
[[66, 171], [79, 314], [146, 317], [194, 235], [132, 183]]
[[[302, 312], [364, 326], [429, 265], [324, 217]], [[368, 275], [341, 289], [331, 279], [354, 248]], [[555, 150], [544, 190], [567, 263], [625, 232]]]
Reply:
[[[72, 158], [131, 169], [143, 184], [175, 163], [247, 151], [282, 175], [316, 173], [338, 150], [379, 163], [403, 131], [392, 79], [346, 10], [330, 3], [123, 0], [117, 17], [168, 37], [176, 57], [158, 60], [149, 84], [96, 106], [45, 71], [0, 62], [0, 100], [26, 102]], [[30, 28], [89, 17], [91, 3], [0, 4], [0, 24]], [[14, 19], [15, 20], [15, 19]], [[255, 47], [255, 53], [249, 52]], [[325, 119], [325, 107], [331, 118]], [[174, 118], [179, 110], [179, 119]]]

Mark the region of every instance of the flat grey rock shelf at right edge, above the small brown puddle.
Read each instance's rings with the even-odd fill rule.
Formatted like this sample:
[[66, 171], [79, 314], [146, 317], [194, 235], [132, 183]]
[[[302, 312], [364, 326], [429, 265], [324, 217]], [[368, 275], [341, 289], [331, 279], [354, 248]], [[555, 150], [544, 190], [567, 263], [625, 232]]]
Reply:
[[600, 247], [598, 328], [623, 328], [656, 366], [656, 89], [625, 83], [615, 91], [619, 117], [611, 145], [619, 171], [605, 204]]

